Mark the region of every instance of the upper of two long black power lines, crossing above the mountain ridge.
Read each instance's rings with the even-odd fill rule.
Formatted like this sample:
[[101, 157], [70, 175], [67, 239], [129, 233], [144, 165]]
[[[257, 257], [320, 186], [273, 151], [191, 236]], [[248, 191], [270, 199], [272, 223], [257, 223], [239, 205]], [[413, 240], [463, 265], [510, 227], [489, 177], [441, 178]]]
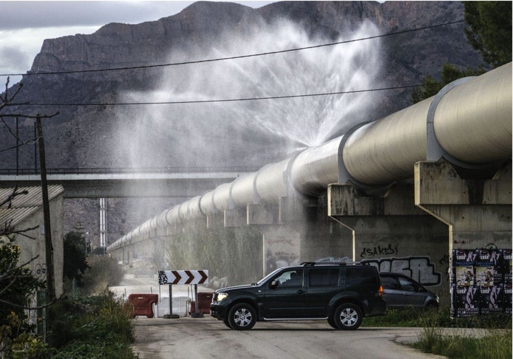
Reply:
[[371, 40], [371, 39], [374, 39], [374, 38], [383, 38], [385, 36], [394, 36], [394, 35], [399, 35], [399, 34], [406, 34], [408, 32], [417, 32], [417, 31], [422, 31], [422, 30], [425, 30], [425, 29], [433, 29], [434, 27], [454, 25], [454, 24], [463, 23], [463, 22], [464, 22], [464, 20], [457, 20], [457, 21], [451, 21], [449, 23], [441, 23], [441, 24], [429, 25], [429, 26], [425, 26], [425, 27], [416, 27], [414, 29], [406, 29], [406, 30], [401, 30], [401, 31], [398, 31], [398, 32], [390, 32], [390, 33], [387, 33], [387, 34], [368, 36], [366, 38], [357, 38], [357, 39], [353, 39], [353, 40], [330, 42], [330, 43], [322, 44], [322, 45], [298, 47], [298, 48], [294, 48], [294, 49], [286, 49], [286, 50], [278, 50], [278, 51], [268, 51], [268, 52], [263, 52], [263, 53], [252, 53], [250, 55], [237, 55], [237, 56], [230, 56], [230, 57], [226, 57], [226, 58], [214, 58], [214, 59], [207, 59], [207, 60], [184, 61], [184, 62], [171, 62], [171, 63], [168, 63], [168, 64], [154, 64], [154, 65], [115, 67], [115, 68], [112, 68], [112, 69], [93, 69], [93, 70], [75, 70], [75, 71], [52, 71], [52, 72], [43, 72], [43, 73], [11, 73], [11, 74], [0, 74], [0, 76], [33, 76], [33, 75], [61, 75], [61, 74], [71, 74], [71, 73], [95, 73], [95, 72], [104, 72], [104, 71], [126, 71], [126, 70], [136, 70], [136, 69], [152, 69], [152, 68], [156, 68], [156, 67], [178, 66], [178, 65], [186, 65], [186, 64], [201, 64], [201, 63], [204, 63], [204, 62], [215, 62], [215, 61], [223, 61], [223, 60], [235, 60], [235, 59], [240, 59], [240, 58], [252, 58], [252, 57], [255, 57], [255, 56], [274, 55], [276, 53], [287, 53], [287, 52], [292, 52], [292, 51], [301, 51], [301, 50], [307, 50], [307, 49], [317, 49], [319, 47], [328, 47], [328, 46], [334, 46], [334, 45], [347, 44], [349, 42]]

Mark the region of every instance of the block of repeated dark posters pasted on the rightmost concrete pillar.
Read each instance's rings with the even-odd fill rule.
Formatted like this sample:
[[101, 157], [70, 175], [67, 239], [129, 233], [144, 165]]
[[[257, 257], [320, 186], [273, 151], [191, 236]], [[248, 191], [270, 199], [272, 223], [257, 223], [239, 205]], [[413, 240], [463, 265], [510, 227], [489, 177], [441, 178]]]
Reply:
[[512, 250], [454, 249], [451, 317], [512, 312]]

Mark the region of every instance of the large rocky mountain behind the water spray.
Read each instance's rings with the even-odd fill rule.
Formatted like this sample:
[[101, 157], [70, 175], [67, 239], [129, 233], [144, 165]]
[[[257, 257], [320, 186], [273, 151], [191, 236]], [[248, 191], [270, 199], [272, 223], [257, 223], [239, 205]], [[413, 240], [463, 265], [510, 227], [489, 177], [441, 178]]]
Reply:
[[[409, 106], [408, 86], [445, 62], [476, 67], [464, 23], [433, 27], [463, 18], [457, 1], [200, 1], [45, 40], [16, 98], [30, 106], [16, 111], [59, 112], [43, 124], [49, 168], [259, 167]], [[219, 58], [230, 59], [202, 62]], [[377, 88], [396, 89], [358, 93]], [[248, 100], [321, 93], [333, 95]], [[32, 138], [33, 121], [20, 134]], [[13, 141], [1, 128], [0, 143]], [[3, 152], [0, 169], [15, 166], [14, 150]], [[37, 166], [33, 147], [19, 166]], [[156, 214], [145, 209], [123, 223], [110, 216], [111, 240]]]

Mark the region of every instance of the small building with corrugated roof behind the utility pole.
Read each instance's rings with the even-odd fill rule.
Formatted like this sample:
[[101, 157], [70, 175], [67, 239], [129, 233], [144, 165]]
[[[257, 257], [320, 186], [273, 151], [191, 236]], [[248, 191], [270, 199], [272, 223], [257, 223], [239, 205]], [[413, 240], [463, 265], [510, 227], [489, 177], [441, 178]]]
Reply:
[[[29, 262], [32, 273], [41, 280], [46, 280], [45, 226], [43, 216], [43, 194], [41, 187], [19, 187], [12, 200], [3, 203], [14, 193], [14, 188], [0, 188], [0, 226], [10, 227], [16, 231], [15, 243], [21, 249], [19, 264]], [[51, 242], [53, 246], [53, 274], [56, 297], [63, 293], [63, 197], [61, 185], [48, 186], [50, 208]], [[32, 260], [32, 258], [35, 258]]]

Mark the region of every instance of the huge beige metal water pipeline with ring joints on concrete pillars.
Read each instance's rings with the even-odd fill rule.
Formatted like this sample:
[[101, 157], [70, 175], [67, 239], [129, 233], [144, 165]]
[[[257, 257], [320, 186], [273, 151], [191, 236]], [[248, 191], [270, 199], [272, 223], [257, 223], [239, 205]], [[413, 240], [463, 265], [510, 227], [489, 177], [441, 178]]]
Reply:
[[[141, 240], [158, 225], [171, 226], [260, 201], [276, 205], [280, 197], [288, 194], [287, 185], [300, 195], [315, 196], [331, 183], [351, 181], [363, 186], [381, 186], [407, 179], [413, 176], [415, 162], [422, 160], [452, 159], [458, 165], [468, 164], [469, 168], [508, 160], [512, 153], [511, 119], [512, 64], [509, 63], [455, 86], [449, 85], [436, 97], [362, 125], [350, 134], [222, 184], [165, 211], [165, 221], [161, 219], [163, 214], [157, 217], [160, 221], [147, 221], [110, 249], [123, 247], [132, 238]], [[429, 133], [429, 121], [433, 121], [433, 134]], [[429, 136], [434, 136], [436, 146], [440, 147], [437, 158], [430, 155], [433, 141]], [[479, 151], [468, 156], [469, 147]]]

